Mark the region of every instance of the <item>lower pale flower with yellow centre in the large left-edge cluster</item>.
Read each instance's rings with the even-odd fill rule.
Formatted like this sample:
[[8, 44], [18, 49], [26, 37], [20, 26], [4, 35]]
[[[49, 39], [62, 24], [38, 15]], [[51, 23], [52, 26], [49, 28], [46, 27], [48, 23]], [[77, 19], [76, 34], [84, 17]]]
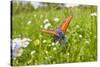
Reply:
[[[13, 44], [13, 43], [12, 43]], [[15, 45], [14, 49], [12, 49], [12, 55], [13, 57], [19, 57], [23, 53], [23, 49], [20, 48], [18, 44]]]

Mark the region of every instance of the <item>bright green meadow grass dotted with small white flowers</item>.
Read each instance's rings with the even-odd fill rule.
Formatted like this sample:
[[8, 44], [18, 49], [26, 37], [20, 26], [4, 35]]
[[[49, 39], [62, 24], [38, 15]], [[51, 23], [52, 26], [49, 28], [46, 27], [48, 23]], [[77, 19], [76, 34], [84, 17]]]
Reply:
[[[32, 39], [28, 47], [23, 48], [22, 56], [13, 60], [14, 66], [34, 64], [59, 64], [72, 62], [90, 62], [97, 60], [97, 17], [90, 16], [96, 12], [96, 7], [75, 7], [55, 9], [53, 7], [40, 8], [31, 12], [21, 11], [12, 15], [12, 39], [21, 35], [21, 38]], [[36, 15], [36, 17], [34, 16]], [[41, 17], [43, 15], [43, 17]], [[68, 44], [52, 46], [52, 37], [40, 32], [43, 28], [43, 21], [47, 18], [53, 28], [56, 29], [67, 16], [71, 15], [72, 20], [65, 33]], [[55, 17], [59, 22], [54, 22]], [[28, 21], [32, 21], [30, 25]], [[78, 26], [78, 27], [77, 27]], [[79, 37], [82, 35], [82, 38]], [[95, 38], [96, 36], [96, 38]], [[43, 43], [46, 40], [46, 43]], [[89, 44], [86, 43], [89, 41]], [[54, 50], [56, 48], [56, 50]], [[32, 51], [36, 51], [31, 55]]]

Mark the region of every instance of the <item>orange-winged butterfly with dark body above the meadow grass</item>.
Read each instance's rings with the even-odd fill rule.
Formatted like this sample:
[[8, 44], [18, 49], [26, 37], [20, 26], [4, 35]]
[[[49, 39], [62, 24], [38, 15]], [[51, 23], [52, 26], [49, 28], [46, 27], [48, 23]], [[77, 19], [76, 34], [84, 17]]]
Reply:
[[72, 16], [68, 16], [67, 19], [61, 23], [56, 30], [43, 29], [42, 32], [48, 33], [53, 36], [54, 42], [60, 41], [61, 44], [66, 44], [68, 40], [65, 38], [65, 32], [69, 26]]

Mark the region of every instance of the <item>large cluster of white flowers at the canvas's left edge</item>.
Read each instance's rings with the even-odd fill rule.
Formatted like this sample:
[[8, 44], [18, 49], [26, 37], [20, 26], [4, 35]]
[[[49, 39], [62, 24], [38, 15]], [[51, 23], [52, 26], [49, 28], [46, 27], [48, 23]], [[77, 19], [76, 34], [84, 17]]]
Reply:
[[12, 56], [19, 57], [23, 53], [23, 49], [29, 45], [31, 39], [29, 38], [15, 38], [11, 41]]

